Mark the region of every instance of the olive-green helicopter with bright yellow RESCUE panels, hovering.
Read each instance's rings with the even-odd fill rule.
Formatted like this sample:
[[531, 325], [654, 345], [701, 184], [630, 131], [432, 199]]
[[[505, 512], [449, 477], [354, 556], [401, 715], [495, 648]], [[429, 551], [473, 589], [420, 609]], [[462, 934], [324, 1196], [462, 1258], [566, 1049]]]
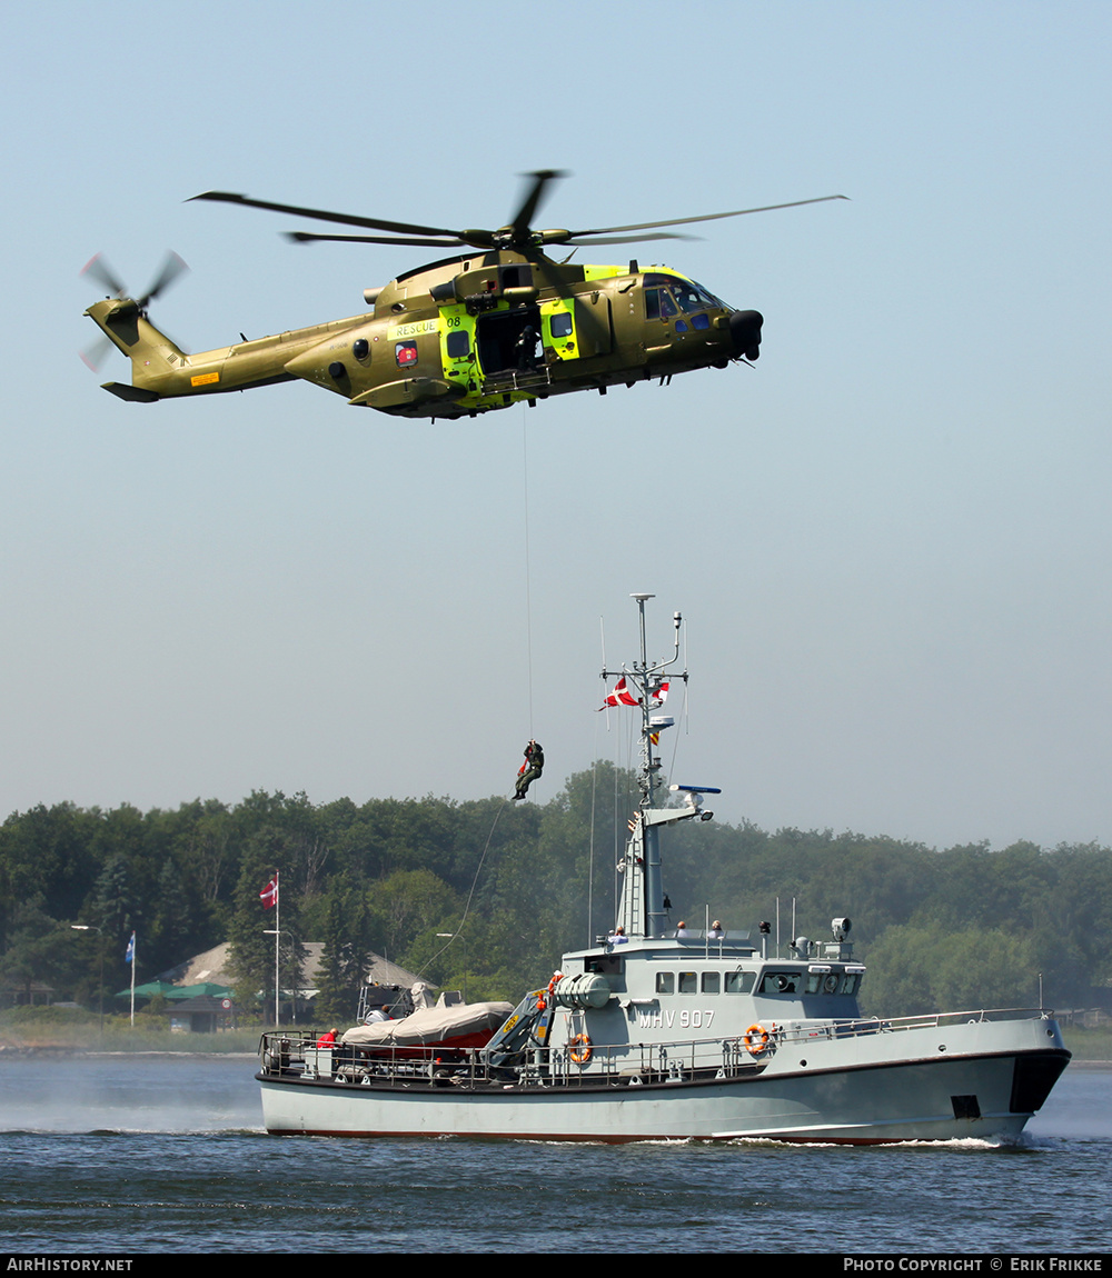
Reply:
[[[101, 263], [86, 272], [112, 290], [89, 316], [132, 360], [132, 383], [106, 382], [123, 400], [249, 390], [302, 378], [357, 406], [403, 418], [477, 417], [570, 391], [660, 380], [697, 368], [726, 368], [761, 354], [763, 317], [737, 311], [667, 267], [573, 265], [579, 245], [688, 239], [663, 227], [740, 217], [845, 199], [822, 196], [671, 221], [593, 230], [534, 230], [551, 184], [566, 176], [543, 169], [530, 179], [510, 221], [497, 230], [447, 230], [412, 222], [279, 204], [222, 190], [192, 197], [387, 235], [290, 231], [297, 243], [322, 240], [450, 248], [452, 254], [366, 289], [368, 311], [271, 337], [185, 354], [148, 318], [151, 300], [181, 271], [174, 254], [141, 298]], [[555, 261], [550, 250], [571, 247]]]

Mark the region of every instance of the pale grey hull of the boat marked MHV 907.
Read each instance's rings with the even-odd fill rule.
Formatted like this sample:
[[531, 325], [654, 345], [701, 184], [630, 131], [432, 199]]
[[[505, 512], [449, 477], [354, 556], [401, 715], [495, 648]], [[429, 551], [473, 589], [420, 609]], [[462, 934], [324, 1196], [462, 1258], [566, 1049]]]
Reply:
[[[757, 1076], [643, 1085], [588, 1077], [571, 1086], [474, 1089], [266, 1074], [258, 1080], [266, 1127], [275, 1135], [996, 1140], [1019, 1136], [1070, 1059], [1057, 1026], [1051, 1031], [1048, 1024], [951, 1026], [945, 1043], [937, 1029], [874, 1034], [823, 1044], [826, 1051], [813, 1044], [809, 1056], [777, 1052]], [[899, 1045], [883, 1042], [892, 1038]], [[985, 1039], [994, 1040], [991, 1049]]]

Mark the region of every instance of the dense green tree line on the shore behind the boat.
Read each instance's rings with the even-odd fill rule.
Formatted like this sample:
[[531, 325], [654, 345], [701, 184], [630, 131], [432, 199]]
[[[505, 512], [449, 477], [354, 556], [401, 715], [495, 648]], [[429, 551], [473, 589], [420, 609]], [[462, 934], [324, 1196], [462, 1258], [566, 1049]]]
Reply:
[[[281, 873], [284, 985], [304, 942], [323, 942], [317, 1012], [354, 1013], [371, 952], [468, 997], [516, 1001], [547, 982], [562, 950], [614, 921], [631, 773], [598, 763], [551, 801], [350, 799], [256, 791], [239, 804], [175, 810], [73, 804], [0, 826], [0, 990], [35, 985], [95, 1007], [230, 939], [242, 1006], [272, 987], [272, 915], [259, 889]], [[743, 822], [684, 823], [665, 836], [672, 920], [827, 939], [854, 920], [868, 965], [863, 1008], [1083, 1007], [1112, 984], [1112, 850], [1019, 842], [936, 851], [831, 831], [769, 833]], [[77, 930], [74, 924], [87, 930]]]

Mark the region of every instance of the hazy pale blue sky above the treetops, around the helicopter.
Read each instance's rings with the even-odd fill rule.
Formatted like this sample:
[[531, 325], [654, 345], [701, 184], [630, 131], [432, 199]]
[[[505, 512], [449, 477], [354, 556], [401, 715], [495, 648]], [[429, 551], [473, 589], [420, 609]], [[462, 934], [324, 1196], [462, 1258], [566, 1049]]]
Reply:
[[[1112, 842], [1107, 4], [3, 23], [0, 818], [478, 799], [530, 736], [543, 803], [631, 760], [596, 707], [642, 590], [654, 656], [686, 620], [666, 766], [720, 818]], [[553, 226], [850, 198], [633, 249], [766, 317], [754, 368], [667, 387], [429, 424], [300, 382], [125, 404], [78, 359], [97, 252], [134, 291], [189, 263], [152, 318], [194, 351], [427, 252], [202, 190], [497, 226], [541, 167]]]

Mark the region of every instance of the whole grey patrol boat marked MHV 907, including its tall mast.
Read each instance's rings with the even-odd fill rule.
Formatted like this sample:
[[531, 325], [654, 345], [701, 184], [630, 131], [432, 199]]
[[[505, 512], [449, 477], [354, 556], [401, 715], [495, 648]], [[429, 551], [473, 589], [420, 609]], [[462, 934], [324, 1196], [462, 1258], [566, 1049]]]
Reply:
[[830, 941], [794, 939], [787, 957], [767, 924], [755, 941], [670, 927], [661, 829], [711, 819], [704, 803], [720, 791], [663, 792], [653, 748], [672, 721], [653, 711], [680, 659], [681, 617], [672, 657], [649, 662], [653, 596], [633, 598], [640, 659], [603, 671], [619, 676], [608, 703], [642, 717], [640, 803], [614, 930], [565, 953], [481, 1047], [452, 1048], [442, 1029], [422, 1040], [406, 1020], [396, 1033], [376, 1026], [373, 1042], [357, 1028], [335, 1045], [265, 1034], [267, 1131], [611, 1143], [1017, 1136], [1070, 1059], [1043, 1008], [865, 1017], [849, 919], [833, 920]]

